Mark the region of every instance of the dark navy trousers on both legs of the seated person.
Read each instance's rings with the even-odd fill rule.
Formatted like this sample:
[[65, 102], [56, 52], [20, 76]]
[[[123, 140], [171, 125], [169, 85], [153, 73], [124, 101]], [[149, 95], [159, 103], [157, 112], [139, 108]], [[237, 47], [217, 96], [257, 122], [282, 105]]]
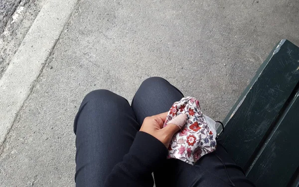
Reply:
[[[112, 168], [128, 153], [147, 116], [168, 111], [183, 94], [158, 77], [145, 80], [132, 106], [122, 96], [96, 90], [85, 96], [74, 122], [77, 187], [103, 187]], [[154, 173], [156, 187], [251, 187], [242, 169], [217, 142], [217, 150], [194, 166], [169, 159]], [[146, 157], [146, 155], [145, 155]], [[149, 184], [153, 179], [149, 178]]]

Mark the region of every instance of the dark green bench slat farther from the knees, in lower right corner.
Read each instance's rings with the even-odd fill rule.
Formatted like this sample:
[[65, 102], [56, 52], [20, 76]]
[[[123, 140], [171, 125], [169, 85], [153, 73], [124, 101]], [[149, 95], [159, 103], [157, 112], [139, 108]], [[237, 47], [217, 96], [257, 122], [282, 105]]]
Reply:
[[286, 187], [299, 166], [298, 132], [299, 92], [270, 133], [247, 177], [258, 187]]

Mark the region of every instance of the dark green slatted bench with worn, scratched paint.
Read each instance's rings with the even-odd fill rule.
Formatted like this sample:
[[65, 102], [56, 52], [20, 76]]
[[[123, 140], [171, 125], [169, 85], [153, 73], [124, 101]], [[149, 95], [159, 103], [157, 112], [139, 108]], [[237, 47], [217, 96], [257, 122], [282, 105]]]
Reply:
[[282, 40], [223, 121], [222, 142], [257, 187], [299, 187], [299, 48]]

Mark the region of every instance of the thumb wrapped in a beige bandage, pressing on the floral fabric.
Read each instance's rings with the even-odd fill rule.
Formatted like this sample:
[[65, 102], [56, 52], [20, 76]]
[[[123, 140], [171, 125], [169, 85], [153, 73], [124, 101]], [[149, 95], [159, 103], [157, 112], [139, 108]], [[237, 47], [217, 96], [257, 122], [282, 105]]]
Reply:
[[161, 130], [167, 132], [167, 134], [173, 135], [176, 133], [179, 129], [181, 129], [187, 120], [187, 115], [184, 113], [179, 114], [175, 118], [171, 119], [168, 123], [167, 126], [162, 128]]

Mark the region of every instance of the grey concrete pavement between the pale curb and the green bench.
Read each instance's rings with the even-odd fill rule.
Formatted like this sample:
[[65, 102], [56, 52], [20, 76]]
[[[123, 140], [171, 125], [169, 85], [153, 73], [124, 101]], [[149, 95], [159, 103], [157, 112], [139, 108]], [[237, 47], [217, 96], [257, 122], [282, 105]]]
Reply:
[[131, 102], [159, 76], [222, 120], [277, 42], [299, 45], [298, 0], [79, 0], [71, 8], [13, 113], [1, 187], [74, 186], [73, 119], [92, 90]]

